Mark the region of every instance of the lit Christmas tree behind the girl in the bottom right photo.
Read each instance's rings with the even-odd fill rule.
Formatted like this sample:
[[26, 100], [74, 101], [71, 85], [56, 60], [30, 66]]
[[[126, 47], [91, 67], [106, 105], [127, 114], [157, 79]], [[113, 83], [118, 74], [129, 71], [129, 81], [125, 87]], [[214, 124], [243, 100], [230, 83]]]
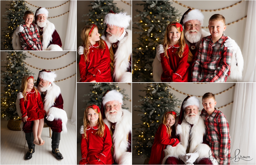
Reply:
[[147, 83], [146, 89], [140, 90], [146, 92], [145, 96], [139, 95], [141, 98], [139, 102], [143, 103], [140, 106], [134, 106], [140, 108], [140, 110], [135, 111], [141, 112], [138, 114], [141, 116], [141, 123], [133, 124], [139, 125], [133, 134], [133, 140], [136, 140], [133, 148], [136, 155], [141, 156], [142, 159], [150, 157], [155, 132], [162, 122], [164, 112], [172, 110], [178, 113], [175, 107], [180, 105], [181, 101], [175, 99], [168, 87], [167, 83]]

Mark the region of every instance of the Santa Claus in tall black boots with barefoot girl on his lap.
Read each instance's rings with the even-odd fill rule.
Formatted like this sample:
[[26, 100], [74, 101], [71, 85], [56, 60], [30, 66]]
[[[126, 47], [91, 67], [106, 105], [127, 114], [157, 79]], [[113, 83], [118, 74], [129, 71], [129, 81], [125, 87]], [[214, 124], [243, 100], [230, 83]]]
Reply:
[[[44, 110], [46, 111], [46, 117], [44, 122], [51, 128], [51, 152], [55, 154], [57, 159], [63, 159], [62, 154], [59, 151], [60, 134], [61, 132], [67, 132], [67, 113], [63, 110], [63, 98], [61, 96], [60, 87], [54, 83], [56, 74], [51, 71], [41, 70], [37, 78], [37, 90], [39, 91], [44, 103]], [[22, 93], [19, 92], [17, 100], [22, 98]], [[16, 108], [19, 116], [21, 112], [19, 109], [19, 102], [16, 101]], [[33, 121], [26, 121], [21, 125], [25, 132], [27, 145], [29, 151], [26, 153], [25, 159], [31, 159], [32, 154], [35, 152], [35, 144], [33, 143]], [[33, 152], [32, 152], [33, 151]]]

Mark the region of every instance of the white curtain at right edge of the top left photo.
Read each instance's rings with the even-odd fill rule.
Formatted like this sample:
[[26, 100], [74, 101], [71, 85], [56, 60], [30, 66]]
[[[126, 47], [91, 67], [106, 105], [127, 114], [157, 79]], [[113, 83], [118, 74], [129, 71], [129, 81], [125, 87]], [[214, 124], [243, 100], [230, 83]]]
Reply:
[[77, 46], [77, 1], [70, 1], [65, 51], [75, 51]]

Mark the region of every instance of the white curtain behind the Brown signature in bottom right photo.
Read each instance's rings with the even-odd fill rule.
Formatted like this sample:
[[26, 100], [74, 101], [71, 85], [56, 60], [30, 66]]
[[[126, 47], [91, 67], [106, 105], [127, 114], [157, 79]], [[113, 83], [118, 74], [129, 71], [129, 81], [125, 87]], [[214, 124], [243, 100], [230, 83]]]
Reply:
[[[254, 36], [255, 37], [255, 36]], [[230, 137], [231, 137], [231, 149], [230, 156], [250, 156], [247, 159], [232, 159], [230, 164], [255, 164], [255, 116], [256, 116], [256, 103], [255, 103], [255, 83], [236, 83], [236, 89], [234, 93], [234, 105], [231, 115]], [[238, 150], [240, 153], [238, 154]], [[252, 159], [252, 160], [251, 160]], [[245, 161], [250, 160], [250, 161]]]

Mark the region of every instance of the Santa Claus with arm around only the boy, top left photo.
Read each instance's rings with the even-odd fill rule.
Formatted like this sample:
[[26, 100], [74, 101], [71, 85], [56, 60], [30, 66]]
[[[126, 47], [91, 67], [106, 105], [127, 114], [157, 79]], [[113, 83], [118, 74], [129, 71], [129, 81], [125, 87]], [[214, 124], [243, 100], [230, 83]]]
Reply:
[[[35, 24], [40, 35], [43, 51], [62, 51], [62, 43], [55, 26], [49, 20], [48, 10], [46, 8], [38, 8], [35, 13]], [[14, 50], [21, 50], [21, 43], [18, 33], [23, 31], [22, 26], [18, 26], [12, 35], [12, 47]]]

